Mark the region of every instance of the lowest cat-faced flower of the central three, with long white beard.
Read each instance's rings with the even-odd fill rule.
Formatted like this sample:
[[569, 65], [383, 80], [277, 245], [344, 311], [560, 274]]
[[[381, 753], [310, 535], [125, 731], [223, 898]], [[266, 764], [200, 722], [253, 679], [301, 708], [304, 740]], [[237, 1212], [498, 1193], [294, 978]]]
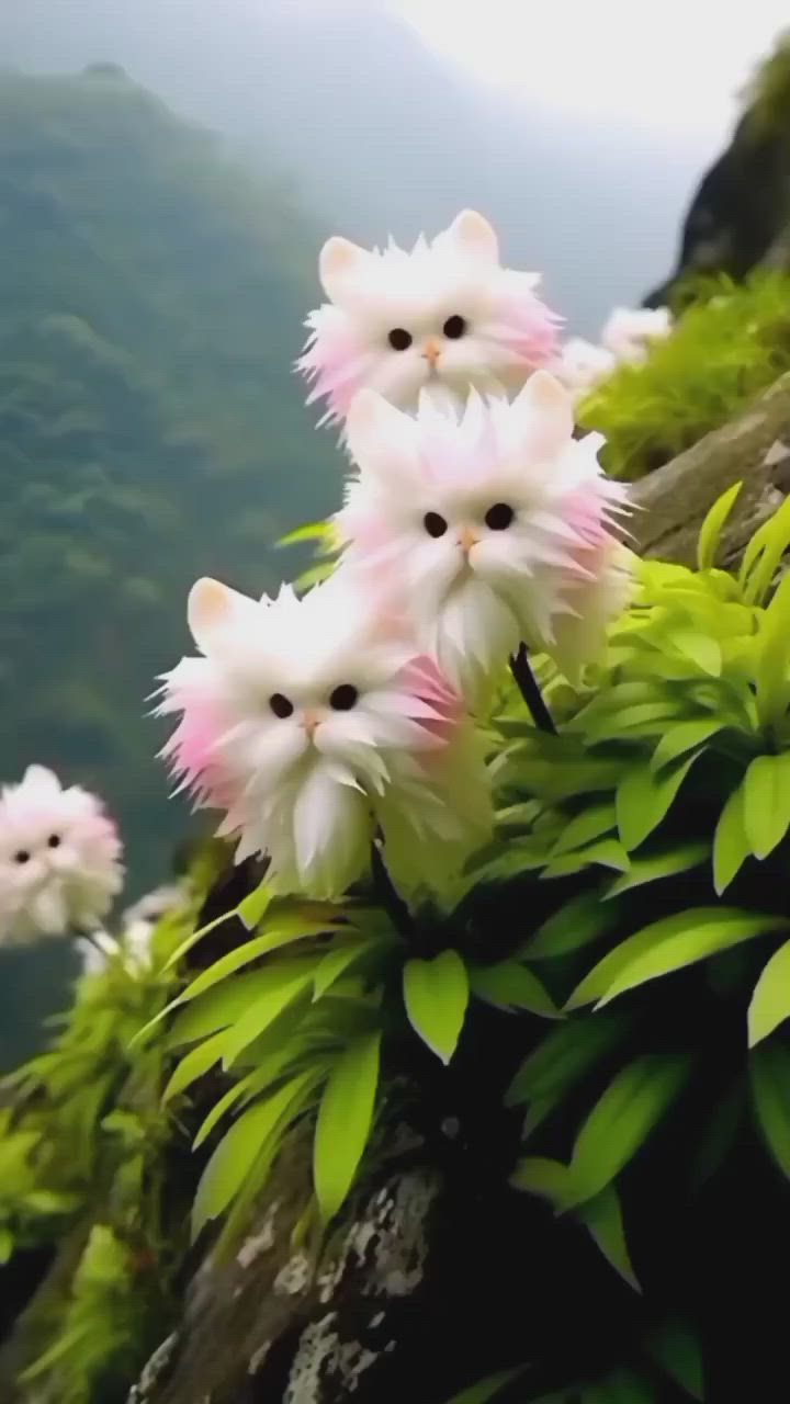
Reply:
[[200, 580], [188, 619], [202, 657], [164, 678], [159, 710], [180, 722], [163, 754], [200, 806], [225, 810], [238, 861], [266, 854], [280, 890], [337, 896], [378, 828], [391, 870], [410, 835], [417, 878], [485, 838], [486, 775], [458, 696], [378, 591], [343, 570], [301, 600]]

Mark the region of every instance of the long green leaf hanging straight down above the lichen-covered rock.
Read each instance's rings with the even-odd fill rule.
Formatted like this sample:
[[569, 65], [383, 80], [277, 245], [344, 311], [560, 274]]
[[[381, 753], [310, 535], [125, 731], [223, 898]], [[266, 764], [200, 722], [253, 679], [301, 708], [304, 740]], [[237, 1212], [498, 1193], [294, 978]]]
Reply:
[[370, 1136], [381, 1032], [356, 1039], [335, 1061], [318, 1111], [313, 1181], [323, 1221], [340, 1209]]

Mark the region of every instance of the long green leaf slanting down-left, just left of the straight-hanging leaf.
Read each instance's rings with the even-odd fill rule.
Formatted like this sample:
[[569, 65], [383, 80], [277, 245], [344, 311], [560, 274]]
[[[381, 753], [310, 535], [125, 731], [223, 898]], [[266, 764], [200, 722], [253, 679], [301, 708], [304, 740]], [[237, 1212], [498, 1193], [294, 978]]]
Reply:
[[312, 1070], [285, 1082], [280, 1091], [242, 1112], [238, 1122], [222, 1137], [205, 1167], [193, 1206], [193, 1237], [197, 1238], [211, 1219], [225, 1212], [239, 1193], [257, 1157], [274, 1132], [280, 1118], [299, 1094], [315, 1081]]

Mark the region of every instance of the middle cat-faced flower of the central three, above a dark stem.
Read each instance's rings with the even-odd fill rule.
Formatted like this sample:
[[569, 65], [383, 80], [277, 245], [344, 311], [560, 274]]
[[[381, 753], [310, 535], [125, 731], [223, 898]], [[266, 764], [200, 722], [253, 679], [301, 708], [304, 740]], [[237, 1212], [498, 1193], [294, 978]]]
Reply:
[[471, 706], [520, 642], [575, 677], [628, 591], [616, 522], [626, 487], [600, 435], [574, 438], [571, 395], [545, 371], [517, 399], [471, 392], [416, 418], [371, 390], [347, 421], [356, 462], [335, 518], [344, 559], [398, 581], [419, 643]]

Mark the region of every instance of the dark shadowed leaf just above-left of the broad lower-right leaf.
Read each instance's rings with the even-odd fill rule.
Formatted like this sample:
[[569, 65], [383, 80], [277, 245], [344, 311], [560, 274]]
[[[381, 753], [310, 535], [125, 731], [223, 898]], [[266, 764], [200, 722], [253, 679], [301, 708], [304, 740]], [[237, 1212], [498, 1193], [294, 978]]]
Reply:
[[559, 1099], [602, 1061], [633, 1028], [634, 1016], [607, 1009], [595, 1018], [561, 1024], [522, 1063], [507, 1092], [506, 1106], [555, 1097]]

